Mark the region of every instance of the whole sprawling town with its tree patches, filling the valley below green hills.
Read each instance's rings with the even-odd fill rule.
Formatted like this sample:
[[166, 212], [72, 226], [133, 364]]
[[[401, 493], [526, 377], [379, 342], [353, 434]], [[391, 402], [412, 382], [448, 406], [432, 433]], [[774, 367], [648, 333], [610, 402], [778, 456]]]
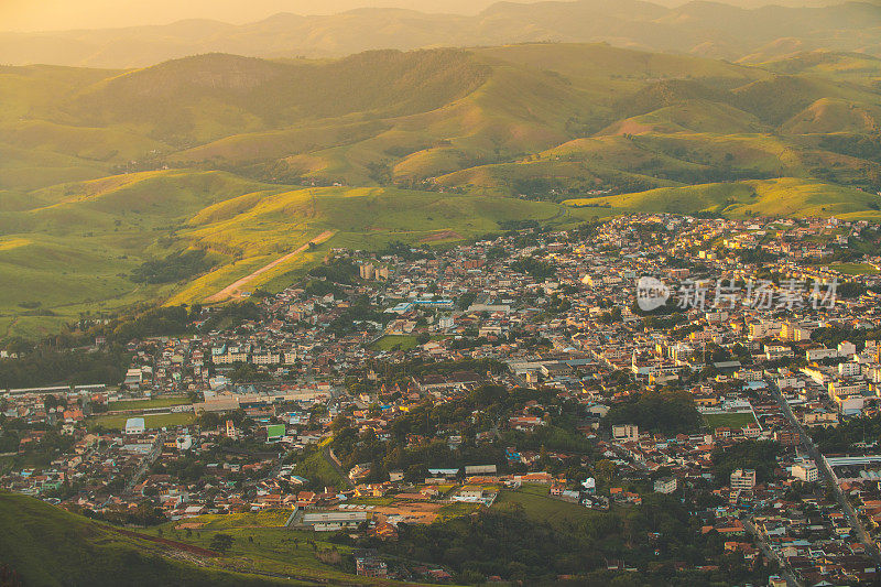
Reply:
[[609, 572], [872, 583], [879, 241], [867, 221], [642, 214], [333, 249], [238, 317], [126, 340], [117, 384], [2, 392], [0, 487], [139, 526], [283, 510], [292, 532], [369, 537], [370, 577], [461, 578], [390, 544], [551, 503], [645, 518]]

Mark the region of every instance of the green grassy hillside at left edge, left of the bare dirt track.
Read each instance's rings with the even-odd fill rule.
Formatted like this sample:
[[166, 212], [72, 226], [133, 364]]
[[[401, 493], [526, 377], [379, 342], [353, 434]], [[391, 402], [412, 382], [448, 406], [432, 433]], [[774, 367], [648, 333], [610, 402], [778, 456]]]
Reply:
[[206, 204], [273, 189], [225, 172], [170, 170], [29, 193], [29, 208], [0, 211], [0, 313], [11, 318], [0, 336], [43, 336], [84, 312], [167, 296], [176, 283], [134, 283], [134, 269], [186, 250], [176, 231]]

